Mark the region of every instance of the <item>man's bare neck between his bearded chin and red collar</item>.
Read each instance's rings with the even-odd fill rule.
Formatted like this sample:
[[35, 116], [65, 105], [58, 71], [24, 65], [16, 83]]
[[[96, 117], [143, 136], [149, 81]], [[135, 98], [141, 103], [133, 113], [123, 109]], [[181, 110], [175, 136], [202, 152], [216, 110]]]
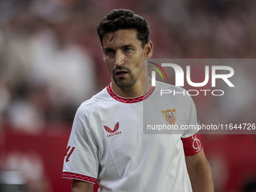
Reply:
[[133, 98], [142, 96], [144, 93], [146, 93], [151, 88], [151, 80], [148, 78], [148, 76], [145, 76], [143, 77], [142, 81], [139, 81], [138, 79], [133, 87], [120, 88], [117, 87], [112, 79], [111, 88], [118, 96], [124, 98]]

